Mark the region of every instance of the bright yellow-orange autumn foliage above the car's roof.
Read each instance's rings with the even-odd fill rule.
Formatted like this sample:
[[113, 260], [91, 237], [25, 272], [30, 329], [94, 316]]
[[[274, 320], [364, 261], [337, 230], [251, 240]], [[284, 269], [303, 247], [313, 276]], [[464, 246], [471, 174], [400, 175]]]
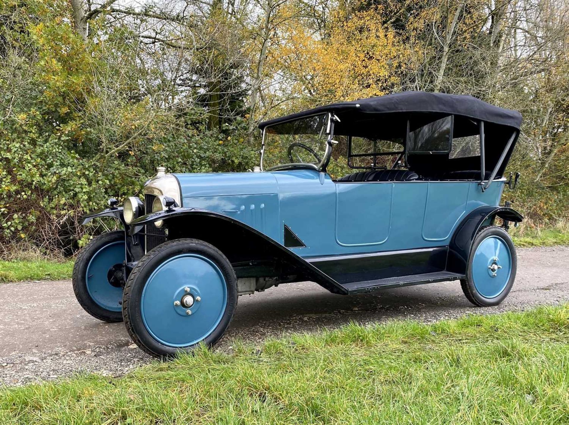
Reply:
[[[294, 13], [288, 9], [284, 13]], [[409, 62], [410, 47], [382, 24], [382, 6], [345, 16], [337, 10], [335, 24], [321, 37], [299, 20], [284, 30], [284, 42], [272, 60], [294, 75], [288, 93], [310, 94], [310, 102], [352, 100], [390, 93]]]

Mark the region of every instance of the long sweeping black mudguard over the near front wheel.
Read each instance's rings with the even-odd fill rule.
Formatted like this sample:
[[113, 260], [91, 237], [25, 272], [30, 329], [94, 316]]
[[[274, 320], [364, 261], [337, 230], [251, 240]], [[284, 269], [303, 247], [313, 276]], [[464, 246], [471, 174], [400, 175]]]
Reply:
[[336, 294], [341, 294], [341, 295], [348, 294], [348, 290], [345, 289], [342, 285], [333, 280], [327, 274], [321, 272], [321, 270], [319, 270], [312, 264], [308, 263], [308, 261], [304, 260], [302, 257], [290, 251], [290, 249], [284, 247], [283, 245], [279, 244], [277, 241], [269, 238], [268, 236], [266, 236], [262, 232], [259, 232], [255, 228], [250, 227], [247, 224], [242, 223], [233, 218], [230, 218], [226, 215], [215, 213], [214, 211], [203, 210], [193, 207], [178, 207], [178, 208], [173, 208], [171, 210], [156, 211], [155, 213], [150, 213], [134, 220], [131, 223], [130, 234], [131, 235], [136, 234], [137, 232], [142, 230], [143, 226], [147, 223], [152, 223], [158, 220], [164, 220], [164, 226], [168, 226], [168, 220], [179, 218], [181, 216], [191, 216], [191, 215], [210, 216], [216, 219], [224, 220], [225, 222], [229, 222], [234, 226], [241, 228], [242, 230], [248, 231], [251, 234], [258, 236], [259, 238], [262, 238], [266, 243], [272, 245], [274, 248], [277, 248], [278, 251], [284, 257], [287, 258], [287, 260], [290, 260], [293, 264], [303, 269], [308, 277], [313, 279], [323, 288], [328, 289], [332, 293]]

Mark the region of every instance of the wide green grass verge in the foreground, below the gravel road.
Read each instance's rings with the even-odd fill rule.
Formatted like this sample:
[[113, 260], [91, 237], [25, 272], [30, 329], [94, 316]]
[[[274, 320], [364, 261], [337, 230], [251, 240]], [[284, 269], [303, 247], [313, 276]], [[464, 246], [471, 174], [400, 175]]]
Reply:
[[0, 423], [569, 423], [569, 305], [201, 349], [0, 390]]

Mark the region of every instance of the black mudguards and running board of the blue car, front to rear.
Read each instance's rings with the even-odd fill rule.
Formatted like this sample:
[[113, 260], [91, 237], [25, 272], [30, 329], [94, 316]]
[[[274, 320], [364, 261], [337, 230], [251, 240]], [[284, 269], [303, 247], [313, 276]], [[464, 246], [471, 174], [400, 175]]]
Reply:
[[[456, 228], [448, 247], [320, 256], [307, 259], [296, 255], [290, 249], [245, 223], [214, 211], [194, 207], [156, 211], [134, 220], [130, 226], [123, 222], [122, 209], [119, 208], [88, 214], [84, 216], [83, 222], [87, 223], [100, 216], [114, 216], [121, 219], [125, 225], [125, 276], [127, 276], [130, 272], [129, 265], [137, 261], [144, 252], [143, 244], [141, 244], [143, 240], [141, 230], [145, 224], [164, 220], [164, 226], [168, 227], [169, 220], [191, 215], [224, 220], [230, 226], [239, 228], [240, 231], [258, 236], [265, 243], [277, 248], [282, 259], [298, 268], [299, 276], [302, 276], [304, 280], [313, 280], [332, 293], [342, 295], [464, 278], [472, 241], [480, 227], [486, 222], [492, 224], [496, 217], [506, 222], [521, 222], [523, 219], [521, 214], [509, 207], [481, 206], [463, 219]], [[255, 261], [247, 261], [243, 264], [235, 264], [235, 266], [240, 270], [240, 274], [251, 277], [258, 275], [260, 270], [265, 270], [266, 273], [273, 270], [272, 264], [256, 264]]]

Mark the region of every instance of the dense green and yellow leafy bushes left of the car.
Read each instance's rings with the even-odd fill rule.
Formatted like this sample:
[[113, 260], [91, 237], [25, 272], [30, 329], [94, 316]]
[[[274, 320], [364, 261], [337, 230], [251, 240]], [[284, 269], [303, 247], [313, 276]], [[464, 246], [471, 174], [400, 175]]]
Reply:
[[1, 10], [0, 245], [69, 254], [84, 236], [81, 215], [136, 194], [156, 166], [239, 171], [258, 161], [245, 118], [208, 130], [199, 107], [160, 109], [162, 93], [137, 86], [155, 70], [141, 71], [128, 44], [85, 46], [57, 9], [67, 4], [30, 5]]

